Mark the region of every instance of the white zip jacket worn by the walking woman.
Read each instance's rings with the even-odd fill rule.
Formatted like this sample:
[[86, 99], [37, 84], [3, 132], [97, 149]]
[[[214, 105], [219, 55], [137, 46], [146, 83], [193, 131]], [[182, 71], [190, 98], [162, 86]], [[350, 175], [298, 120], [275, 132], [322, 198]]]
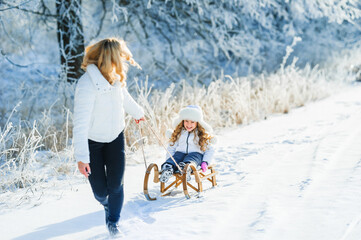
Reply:
[[76, 161], [90, 162], [88, 139], [108, 143], [118, 137], [125, 127], [124, 110], [135, 119], [144, 116], [143, 109], [119, 81], [109, 84], [97, 66], [88, 65], [77, 83], [74, 97]]

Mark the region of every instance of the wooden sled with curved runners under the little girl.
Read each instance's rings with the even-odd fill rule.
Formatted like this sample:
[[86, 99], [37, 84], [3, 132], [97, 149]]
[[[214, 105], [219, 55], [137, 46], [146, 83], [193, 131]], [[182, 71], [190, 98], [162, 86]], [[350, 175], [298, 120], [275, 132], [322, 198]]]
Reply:
[[[187, 174], [185, 174], [185, 173], [187, 172], [188, 168], [192, 169], [191, 176], [194, 177], [198, 187], [195, 187], [191, 183], [187, 182]], [[177, 188], [181, 184], [183, 184], [183, 192], [187, 199], [190, 198], [190, 195], [188, 192], [188, 187], [190, 187], [190, 189], [193, 189], [196, 192], [202, 192], [203, 191], [202, 182], [205, 179], [207, 179], [208, 181], [210, 181], [212, 183], [212, 187], [217, 185], [216, 175], [218, 174], [218, 172], [214, 170], [214, 165], [209, 165], [207, 172], [203, 173], [202, 170], [197, 170], [193, 164], [187, 164], [187, 165], [185, 165], [185, 167], [183, 169], [184, 174], [174, 173], [173, 176], [175, 177], [175, 180], [173, 182], [171, 182], [170, 184], [166, 184], [166, 183], [159, 181], [159, 168], [158, 168], [157, 164], [151, 163], [148, 166], [147, 171], [145, 172], [145, 177], [144, 177], [144, 195], [145, 195], [146, 199], [149, 201], [157, 200], [157, 198], [151, 197], [149, 195], [149, 191], [148, 191], [149, 176], [150, 176], [150, 173], [152, 170], [154, 171], [153, 182], [160, 183], [160, 192], [163, 193], [163, 195], [161, 195], [162, 197], [170, 194], [170, 192], [168, 192], [168, 193], [165, 193], [165, 192], [167, 190], [169, 190], [172, 186], [175, 186]]]

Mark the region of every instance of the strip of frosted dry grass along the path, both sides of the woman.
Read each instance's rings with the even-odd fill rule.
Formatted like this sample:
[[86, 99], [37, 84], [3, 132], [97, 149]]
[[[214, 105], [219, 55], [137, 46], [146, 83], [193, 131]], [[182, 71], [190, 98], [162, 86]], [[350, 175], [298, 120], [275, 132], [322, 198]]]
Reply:
[[[144, 81], [136, 85], [133, 96], [145, 108], [147, 119], [165, 142], [164, 132], [186, 105], [200, 105], [205, 119], [216, 131], [222, 127], [249, 124], [324, 98], [343, 82], [340, 80], [345, 80], [347, 69], [338, 70], [297, 68], [293, 63], [269, 75], [242, 78], [224, 75], [207, 87], [197, 84], [197, 79], [193, 79], [193, 84], [183, 80], [165, 90], [152, 89]], [[39, 200], [47, 188], [54, 189], [60, 184], [57, 180], [81, 177], [76, 172], [69, 141], [72, 137], [71, 114], [68, 109], [62, 112], [63, 115], [53, 115], [51, 111], [44, 111], [43, 118], [32, 124], [24, 120], [13, 124], [9, 120], [0, 129], [1, 202], [16, 205]], [[13, 119], [12, 116], [9, 119]], [[144, 124], [142, 134], [148, 144], [158, 143]], [[134, 143], [140, 135], [130, 116], [127, 117], [125, 136], [127, 152], [136, 151], [139, 145]], [[128, 161], [134, 160], [128, 157]]]

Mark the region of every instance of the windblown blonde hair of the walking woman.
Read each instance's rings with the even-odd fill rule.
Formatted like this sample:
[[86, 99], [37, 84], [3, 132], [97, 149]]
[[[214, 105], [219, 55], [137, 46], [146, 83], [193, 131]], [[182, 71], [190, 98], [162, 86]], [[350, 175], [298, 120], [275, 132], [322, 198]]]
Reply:
[[128, 71], [125, 61], [140, 68], [123, 39], [106, 38], [85, 48], [81, 68], [86, 71], [89, 64], [95, 64], [110, 84], [114, 84], [118, 80], [116, 76], [118, 74], [120, 82], [125, 85]]

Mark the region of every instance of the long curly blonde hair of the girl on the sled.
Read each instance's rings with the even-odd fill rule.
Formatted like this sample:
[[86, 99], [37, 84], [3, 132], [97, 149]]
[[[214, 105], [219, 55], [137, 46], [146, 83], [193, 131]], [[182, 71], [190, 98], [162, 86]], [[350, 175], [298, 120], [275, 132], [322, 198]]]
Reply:
[[[172, 136], [169, 139], [170, 145], [174, 146], [175, 142], [178, 141], [179, 136], [184, 129], [184, 120], [181, 121], [178, 126], [174, 129]], [[198, 145], [201, 147], [201, 150], [205, 152], [207, 150], [207, 146], [210, 143], [210, 140], [213, 138], [211, 135], [209, 135], [204, 127], [197, 122], [197, 127], [193, 130], [195, 132], [197, 130], [198, 135]], [[194, 139], [196, 138], [196, 134], [194, 134]]]

